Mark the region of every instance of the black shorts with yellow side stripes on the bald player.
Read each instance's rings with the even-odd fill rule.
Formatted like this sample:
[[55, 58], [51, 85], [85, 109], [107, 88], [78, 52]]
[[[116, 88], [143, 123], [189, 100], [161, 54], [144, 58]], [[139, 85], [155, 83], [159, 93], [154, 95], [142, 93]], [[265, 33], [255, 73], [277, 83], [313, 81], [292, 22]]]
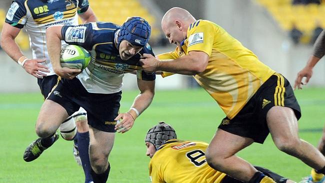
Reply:
[[292, 108], [297, 119], [301, 116], [289, 81], [279, 73], [270, 76], [232, 119], [223, 118], [218, 128], [263, 143], [269, 133], [266, 114], [273, 106]]

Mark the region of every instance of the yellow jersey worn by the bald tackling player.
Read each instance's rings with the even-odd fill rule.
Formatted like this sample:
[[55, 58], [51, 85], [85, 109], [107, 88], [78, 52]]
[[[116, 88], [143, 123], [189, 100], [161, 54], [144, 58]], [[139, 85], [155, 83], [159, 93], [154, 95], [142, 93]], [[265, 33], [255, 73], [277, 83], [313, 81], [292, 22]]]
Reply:
[[[182, 50], [158, 55], [159, 59], [175, 59], [189, 51], [209, 55], [206, 69], [194, 75], [195, 80], [214, 98], [229, 119], [247, 103], [274, 70], [258, 60], [219, 25], [196, 20], [187, 29]], [[167, 76], [170, 73], [164, 73]]]

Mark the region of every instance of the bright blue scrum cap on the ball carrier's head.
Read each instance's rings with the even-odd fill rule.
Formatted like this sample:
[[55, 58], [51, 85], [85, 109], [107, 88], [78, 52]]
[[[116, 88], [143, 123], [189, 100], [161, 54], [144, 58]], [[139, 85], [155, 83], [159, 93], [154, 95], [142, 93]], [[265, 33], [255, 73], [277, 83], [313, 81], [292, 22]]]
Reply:
[[133, 45], [145, 46], [150, 33], [151, 27], [145, 19], [139, 16], [129, 17], [120, 27], [117, 45], [119, 46], [122, 40], [127, 40]]

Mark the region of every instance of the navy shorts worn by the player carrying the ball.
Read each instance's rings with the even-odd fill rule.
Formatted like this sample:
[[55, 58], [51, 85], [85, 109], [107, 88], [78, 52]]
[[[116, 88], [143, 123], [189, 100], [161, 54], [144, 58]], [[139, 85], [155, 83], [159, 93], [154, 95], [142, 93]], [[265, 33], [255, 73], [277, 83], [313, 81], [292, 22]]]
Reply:
[[87, 111], [88, 124], [101, 131], [115, 132], [121, 91], [111, 94], [89, 93], [79, 79], [62, 78], [47, 99], [65, 108], [68, 115], [81, 106]]

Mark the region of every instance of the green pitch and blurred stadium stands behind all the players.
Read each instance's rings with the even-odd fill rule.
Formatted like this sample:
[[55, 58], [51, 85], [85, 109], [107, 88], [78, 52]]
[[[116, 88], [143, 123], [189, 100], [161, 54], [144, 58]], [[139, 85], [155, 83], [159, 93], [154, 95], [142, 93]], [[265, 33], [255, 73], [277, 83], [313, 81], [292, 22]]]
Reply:
[[[0, 0], [0, 28], [11, 0]], [[312, 49], [313, 31], [325, 26], [325, 2], [292, 4], [292, 0], [89, 0], [101, 21], [121, 24], [127, 16], [142, 16], [152, 30], [150, 44], [155, 54], [172, 50], [161, 32], [163, 13], [173, 6], [187, 9], [196, 19], [221, 25], [259, 59], [293, 83], [296, 72], [306, 63]], [[113, 7], [113, 8], [112, 8]], [[299, 42], [291, 39], [295, 26], [302, 32]], [[21, 31], [16, 41], [31, 56], [28, 35]], [[0, 182], [82, 182], [83, 174], [72, 157], [72, 144], [58, 140], [41, 157], [26, 163], [22, 153], [36, 138], [34, 121], [42, 97], [36, 79], [0, 50]], [[295, 94], [302, 108], [300, 136], [316, 145], [325, 117], [325, 63], [319, 61], [313, 77]], [[125, 74], [121, 111], [127, 110], [137, 94], [135, 78]], [[157, 76], [156, 96], [151, 106], [136, 120], [132, 130], [117, 134], [109, 157], [109, 182], [149, 182], [145, 146], [147, 129], [158, 120], [171, 123], [183, 139], [209, 141], [224, 116], [217, 104], [190, 76]], [[295, 181], [310, 169], [273, 145], [253, 144], [239, 154]]]

